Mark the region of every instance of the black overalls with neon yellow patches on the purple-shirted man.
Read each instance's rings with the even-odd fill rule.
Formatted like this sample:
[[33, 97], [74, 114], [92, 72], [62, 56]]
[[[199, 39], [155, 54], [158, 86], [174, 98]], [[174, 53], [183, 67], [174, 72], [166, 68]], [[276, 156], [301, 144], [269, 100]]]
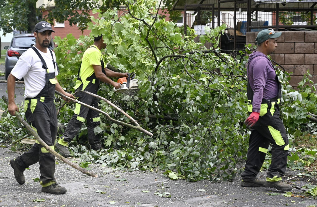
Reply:
[[[259, 120], [251, 129], [249, 149], [245, 170], [241, 174], [243, 181], [254, 180], [259, 173], [268, 146], [272, 143], [272, 160], [268, 169], [266, 180], [269, 182], [279, 181], [285, 174], [288, 156], [288, 137], [280, 116], [281, 83], [275, 75], [279, 85], [277, 97], [262, 99]], [[248, 112], [252, 112], [253, 91], [248, 80]]]

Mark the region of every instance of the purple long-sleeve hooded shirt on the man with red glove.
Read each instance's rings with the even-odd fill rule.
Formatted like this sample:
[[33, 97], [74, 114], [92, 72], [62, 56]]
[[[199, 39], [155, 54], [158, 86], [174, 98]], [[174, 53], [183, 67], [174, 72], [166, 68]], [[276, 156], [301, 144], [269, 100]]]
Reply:
[[276, 73], [268, 57], [258, 51], [249, 56], [247, 73], [253, 90], [252, 111], [260, 112], [263, 98], [271, 99], [278, 95]]

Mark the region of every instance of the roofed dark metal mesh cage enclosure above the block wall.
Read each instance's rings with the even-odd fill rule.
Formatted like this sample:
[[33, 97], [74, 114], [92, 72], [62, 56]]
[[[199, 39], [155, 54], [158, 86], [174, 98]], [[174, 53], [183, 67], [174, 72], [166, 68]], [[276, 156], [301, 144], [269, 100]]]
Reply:
[[[244, 49], [246, 32], [275, 29], [317, 31], [317, 0], [176, 0], [172, 10], [184, 11], [184, 32], [226, 24], [221, 49]], [[199, 38], [197, 38], [199, 41]]]

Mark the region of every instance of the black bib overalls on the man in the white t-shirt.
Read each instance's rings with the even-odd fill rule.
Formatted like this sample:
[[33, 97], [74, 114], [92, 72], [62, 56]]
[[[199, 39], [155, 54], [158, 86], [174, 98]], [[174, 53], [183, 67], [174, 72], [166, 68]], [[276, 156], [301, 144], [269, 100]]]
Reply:
[[[57, 113], [54, 104], [55, 85], [55, 72], [48, 73], [47, 65], [34, 47], [31, 47], [36, 54], [40, 57], [43, 63], [43, 70], [45, 74], [45, 86], [40, 93], [34, 98], [26, 98], [24, 101], [25, 117], [32, 128], [37, 132], [41, 139], [54, 150], [54, 142], [57, 136]], [[49, 50], [52, 59], [53, 53]], [[54, 68], [55, 62], [53, 59]], [[40, 164], [40, 184], [42, 187], [55, 184], [55, 156], [47, 151], [38, 141], [33, 147], [25, 152], [23, 155], [16, 158], [19, 169], [25, 170], [29, 165], [39, 162]]]

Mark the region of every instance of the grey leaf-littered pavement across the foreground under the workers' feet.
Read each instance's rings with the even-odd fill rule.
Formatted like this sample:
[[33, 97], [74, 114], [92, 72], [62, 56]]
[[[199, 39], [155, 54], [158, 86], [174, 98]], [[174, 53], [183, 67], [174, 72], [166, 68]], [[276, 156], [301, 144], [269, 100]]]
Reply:
[[[24, 171], [26, 182], [19, 185], [13, 175], [10, 159], [18, 156], [18, 152], [0, 148], [0, 206], [22, 207], [280, 207], [280, 206], [315, 206], [316, 200], [301, 196], [300, 191], [293, 189], [292, 197], [285, 197], [285, 192], [272, 188], [241, 187], [240, 178], [232, 182], [210, 183], [208, 180], [186, 182], [185, 180], [170, 180], [160, 170], [153, 171], [123, 171], [101, 164], [89, 164], [89, 170], [98, 174], [97, 178], [82, 174], [78, 170], [56, 159], [55, 179], [64, 186], [64, 195], [42, 193], [41, 186], [34, 182], [40, 177], [39, 165], [29, 166]], [[74, 163], [80, 163], [78, 158], [69, 158]], [[287, 170], [286, 177], [296, 175], [295, 171]], [[259, 177], [264, 178], [266, 172]], [[285, 178], [286, 179], [286, 178]], [[300, 178], [298, 178], [300, 179]], [[301, 180], [291, 181], [293, 185], [302, 184]], [[168, 193], [170, 197], [160, 197], [158, 194]]]

